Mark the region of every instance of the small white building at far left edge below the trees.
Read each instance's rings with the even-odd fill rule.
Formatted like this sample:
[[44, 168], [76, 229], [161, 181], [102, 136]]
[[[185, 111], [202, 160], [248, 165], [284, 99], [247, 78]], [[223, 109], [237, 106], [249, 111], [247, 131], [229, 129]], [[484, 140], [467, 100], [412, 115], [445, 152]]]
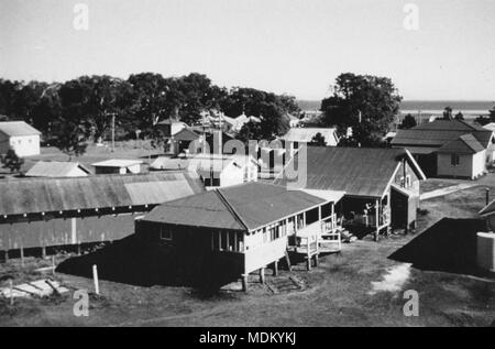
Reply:
[[18, 156], [40, 154], [41, 132], [24, 121], [0, 122], [0, 154], [13, 149]]

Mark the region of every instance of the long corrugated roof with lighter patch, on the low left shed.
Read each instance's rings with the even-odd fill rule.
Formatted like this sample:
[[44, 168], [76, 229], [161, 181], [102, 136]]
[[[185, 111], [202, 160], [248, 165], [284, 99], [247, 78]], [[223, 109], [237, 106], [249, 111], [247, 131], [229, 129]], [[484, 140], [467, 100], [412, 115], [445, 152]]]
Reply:
[[0, 215], [156, 205], [204, 192], [194, 174], [99, 175], [0, 181]]

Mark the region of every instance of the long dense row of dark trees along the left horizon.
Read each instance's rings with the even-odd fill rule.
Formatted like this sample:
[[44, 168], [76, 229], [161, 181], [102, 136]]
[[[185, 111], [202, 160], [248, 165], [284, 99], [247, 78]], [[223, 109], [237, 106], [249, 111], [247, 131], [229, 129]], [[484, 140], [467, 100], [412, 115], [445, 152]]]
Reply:
[[0, 78], [0, 121], [24, 120], [44, 141], [68, 154], [80, 154], [89, 141], [108, 139], [116, 121], [118, 139], [150, 139], [166, 119], [195, 124], [208, 112], [231, 118], [258, 117], [241, 137], [273, 139], [286, 132], [286, 113], [300, 112], [296, 98], [254, 88], [219, 87], [202, 74], [163, 77], [132, 74], [80, 76], [65, 83], [12, 81]]

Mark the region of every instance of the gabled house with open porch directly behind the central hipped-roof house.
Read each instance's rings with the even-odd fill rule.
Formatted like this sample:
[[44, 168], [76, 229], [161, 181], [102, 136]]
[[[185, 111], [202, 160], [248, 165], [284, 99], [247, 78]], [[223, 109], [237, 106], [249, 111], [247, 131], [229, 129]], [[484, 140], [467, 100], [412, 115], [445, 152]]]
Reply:
[[275, 184], [344, 192], [339, 210], [343, 226], [373, 232], [377, 239], [391, 228], [407, 231], [415, 226], [419, 181], [425, 178], [404, 149], [308, 146], [293, 157]]

